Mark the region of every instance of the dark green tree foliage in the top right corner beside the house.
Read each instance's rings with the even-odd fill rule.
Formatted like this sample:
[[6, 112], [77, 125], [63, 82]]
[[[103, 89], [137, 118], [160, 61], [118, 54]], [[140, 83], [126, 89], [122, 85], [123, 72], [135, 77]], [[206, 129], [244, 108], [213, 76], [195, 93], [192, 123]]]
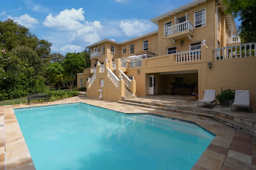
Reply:
[[242, 43], [256, 41], [256, 0], [222, 0], [227, 6], [225, 13], [239, 16]]

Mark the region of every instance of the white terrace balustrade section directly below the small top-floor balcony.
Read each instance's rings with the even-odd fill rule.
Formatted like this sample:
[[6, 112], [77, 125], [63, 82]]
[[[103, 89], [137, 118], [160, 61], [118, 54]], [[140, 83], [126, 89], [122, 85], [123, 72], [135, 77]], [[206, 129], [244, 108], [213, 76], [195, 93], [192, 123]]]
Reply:
[[201, 50], [184, 51], [175, 55], [176, 63], [201, 60]]

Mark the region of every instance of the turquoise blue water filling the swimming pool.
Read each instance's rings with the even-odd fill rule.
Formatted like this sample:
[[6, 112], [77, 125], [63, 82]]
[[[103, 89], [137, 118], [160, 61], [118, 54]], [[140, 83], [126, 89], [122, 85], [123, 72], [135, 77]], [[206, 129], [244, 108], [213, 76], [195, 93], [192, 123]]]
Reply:
[[37, 170], [190, 170], [214, 136], [83, 103], [15, 109]]

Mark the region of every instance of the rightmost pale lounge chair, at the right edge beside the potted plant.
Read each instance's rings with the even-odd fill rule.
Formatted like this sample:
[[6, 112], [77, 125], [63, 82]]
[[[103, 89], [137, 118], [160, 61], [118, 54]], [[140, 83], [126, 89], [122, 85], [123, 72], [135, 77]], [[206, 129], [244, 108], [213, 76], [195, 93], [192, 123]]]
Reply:
[[250, 108], [250, 91], [249, 90], [235, 90], [235, 101], [231, 105], [231, 111], [233, 107], [249, 107]]

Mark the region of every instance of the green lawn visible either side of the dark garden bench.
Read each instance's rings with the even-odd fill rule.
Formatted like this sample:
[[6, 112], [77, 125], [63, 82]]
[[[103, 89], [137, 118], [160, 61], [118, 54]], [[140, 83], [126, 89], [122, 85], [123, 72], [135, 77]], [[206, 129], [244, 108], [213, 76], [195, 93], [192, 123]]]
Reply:
[[[56, 90], [56, 91], [51, 91], [52, 93], [56, 95], [64, 95], [65, 93], [68, 93], [69, 90]], [[59, 98], [54, 98], [53, 100], [59, 100]], [[1, 105], [18, 105], [21, 103], [27, 103], [27, 96], [26, 97], [21, 97], [18, 99], [12, 99], [12, 100], [3, 100], [0, 101], [0, 106]]]

